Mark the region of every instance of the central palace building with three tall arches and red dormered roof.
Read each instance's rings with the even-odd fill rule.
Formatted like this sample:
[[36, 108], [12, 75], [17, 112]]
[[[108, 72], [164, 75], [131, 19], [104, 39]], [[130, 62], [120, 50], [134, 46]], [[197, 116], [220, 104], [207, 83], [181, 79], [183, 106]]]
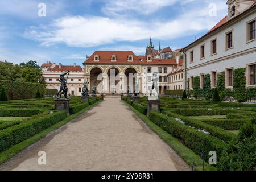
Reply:
[[[119, 79], [115, 80], [115, 85], [119, 82], [119, 90], [126, 93], [129, 73], [137, 73], [139, 93], [145, 95], [152, 86], [152, 73], [157, 72], [159, 93], [163, 94], [168, 89], [168, 73], [182, 63], [182, 59], [154, 59], [150, 54], [137, 56], [132, 51], [95, 51], [84, 62], [85, 81], [89, 82], [90, 90], [93, 86], [101, 84], [102, 92], [117, 93], [115, 86], [110, 84], [110, 70], [114, 69], [115, 75], [119, 76]], [[101, 73], [102, 79], [97, 80]], [[134, 88], [131, 88], [131, 92], [133, 90]]]

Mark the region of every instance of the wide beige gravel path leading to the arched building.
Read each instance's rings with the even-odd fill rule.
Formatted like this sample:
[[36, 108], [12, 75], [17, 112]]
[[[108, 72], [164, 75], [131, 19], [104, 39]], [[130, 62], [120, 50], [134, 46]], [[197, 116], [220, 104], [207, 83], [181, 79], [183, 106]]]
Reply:
[[[38, 152], [46, 152], [46, 165]], [[3, 164], [2, 170], [189, 170], [119, 98], [106, 98]]]

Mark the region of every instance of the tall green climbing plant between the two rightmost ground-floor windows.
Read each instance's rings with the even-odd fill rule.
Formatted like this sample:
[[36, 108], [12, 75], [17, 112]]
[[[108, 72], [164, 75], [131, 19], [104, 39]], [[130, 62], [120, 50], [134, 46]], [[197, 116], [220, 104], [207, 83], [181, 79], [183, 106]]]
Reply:
[[238, 102], [246, 101], [246, 77], [245, 68], [237, 68], [234, 70], [234, 98]]

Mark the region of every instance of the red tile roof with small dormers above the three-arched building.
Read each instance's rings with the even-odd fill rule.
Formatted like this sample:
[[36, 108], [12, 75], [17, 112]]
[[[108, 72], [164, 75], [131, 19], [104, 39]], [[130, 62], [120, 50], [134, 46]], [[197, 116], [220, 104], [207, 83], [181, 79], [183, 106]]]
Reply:
[[[94, 56], [99, 56], [99, 61], [94, 61]], [[111, 61], [112, 55], [116, 56], [116, 61]], [[133, 61], [128, 61], [128, 57], [132, 55]], [[182, 64], [183, 59], [179, 60]], [[176, 65], [176, 59], [152, 59], [147, 61], [146, 56], [136, 56], [133, 51], [95, 51], [84, 64], [164, 64]]]

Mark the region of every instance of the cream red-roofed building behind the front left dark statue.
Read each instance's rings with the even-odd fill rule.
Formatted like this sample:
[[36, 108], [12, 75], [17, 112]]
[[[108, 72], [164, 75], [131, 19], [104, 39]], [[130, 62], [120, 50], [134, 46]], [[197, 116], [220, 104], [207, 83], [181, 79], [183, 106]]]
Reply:
[[[41, 66], [44, 77], [46, 78], [47, 89], [60, 89], [60, 74], [70, 71], [67, 86], [68, 93], [73, 96], [81, 96], [84, 86], [84, 71], [79, 65], [56, 65], [55, 63], [44, 63]], [[67, 77], [67, 75], [65, 76]]]

